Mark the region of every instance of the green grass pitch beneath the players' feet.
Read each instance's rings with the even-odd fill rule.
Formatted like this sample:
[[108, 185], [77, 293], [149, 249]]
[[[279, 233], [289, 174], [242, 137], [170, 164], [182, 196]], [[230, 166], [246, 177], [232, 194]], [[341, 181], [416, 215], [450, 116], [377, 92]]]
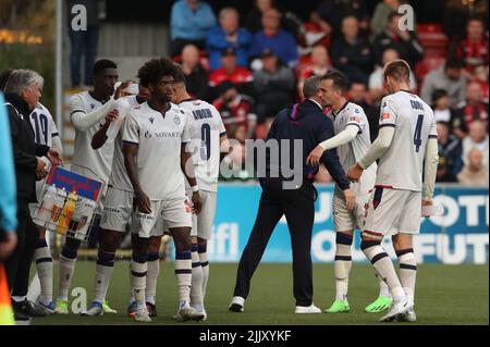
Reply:
[[[211, 264], [206, 306], [208, 320], [185, 324], [377, 324], [380, 314], [364, 313], [364, 307], [375, 299], [377, 282], [368, 264], [354, 264], [351, 274], [351, 313], [294, 314], [291, 264], [260, 264], [252, 283], [252, 293], [245, 302], [245, 312], [232, 313], [228, 305], [233, 294], [237, 264]], [[418, 267], [416, 312], [417, 324], [488, 324], [489, 268], [488, 265]], [[128, 263], [118, 262], [108, 292], [111, 307], [118, 314], [84, 318], [75, 314], [36, 319], [34, 324], [135, 324], [125, 315], [128, 300]], [[86, 287], [88, 300], [93, 297], [95, 263], [76, 264], [72, 287]], [[321, 309], [334, 297], [333, 267], [314, 264], [315, 303]], [[58, 278], [58, 263], [54, 263]], [[57, 282], [54, 283], [54, 289]], [[56, 295], [56, 293], [54, 293]], [[173, 264], [161, 262], [158, 283], [158, 318], [155, 324], [175, 324], [176, 286]]]

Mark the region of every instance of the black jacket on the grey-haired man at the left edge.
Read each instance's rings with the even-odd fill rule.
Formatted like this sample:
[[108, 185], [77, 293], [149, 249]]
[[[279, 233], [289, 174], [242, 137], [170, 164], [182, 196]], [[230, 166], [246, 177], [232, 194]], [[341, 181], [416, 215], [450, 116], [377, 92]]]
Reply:
[[35, 142], [27, 102], [15, 94], [5, 95], [5, 101], [12, 136], [17, 199], [36, 201], [36, 157], [46, 156], [49, 147]]

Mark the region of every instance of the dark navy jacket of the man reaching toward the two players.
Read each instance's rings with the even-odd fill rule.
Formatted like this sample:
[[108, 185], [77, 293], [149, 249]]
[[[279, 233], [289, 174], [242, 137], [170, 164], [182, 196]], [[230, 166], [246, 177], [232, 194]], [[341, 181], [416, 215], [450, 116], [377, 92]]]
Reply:
[[[294, 112], [294, 110], [296, 111]], [[303, 158], [302, 168], [294, 168], [294, 171], [302, 170], [303, 176], [306, 179], [313, 181], [314, 176], [318, 173], [318, 168], [309, 166], [306, 164], [306, 158], [309, 152], [320, 142], [333, 137], [333, 122], [326, 116], [322, 110], [311, 100], [305, 100], [296, 107], [287, 107], [279, 112], [274, 122], [271, 125], [267, 140], [275, 139], [279, 141], [279, 148], [281, 152], [281, 139], [287, 139], [293, 141], [294, 139], [303, 140]], [[294, 142], [290, 142], [290, 168], [293, 166], [293, 153]], [[268, 151], [268, 154], [270, 151]], [[321, 161], [326, 165], [332, 178], [339, 184], [342, 190], [350, 187], [350, 182], [345, 176], [345, 172], [336, 154], [335, 149], [327, 150], [321, 158]], [[267, 174], [277, 174], [277, 171], [281, 171], [279, 163], [273, 158], [267, 156]], [[282, 173], [280, 172], [280, 175]]]

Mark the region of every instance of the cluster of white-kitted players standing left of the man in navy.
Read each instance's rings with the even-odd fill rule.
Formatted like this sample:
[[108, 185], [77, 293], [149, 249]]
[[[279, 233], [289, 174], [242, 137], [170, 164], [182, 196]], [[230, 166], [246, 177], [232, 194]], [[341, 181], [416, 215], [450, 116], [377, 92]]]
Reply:
[[[106, 294], [115, 251], [126, 230], [131, 230], [127, 313], [138, 322], [150, 322], [150, 317], [157, 315], [158, 251], [167, 233], [175, 245], [180, 302], [174, 319], [206, 320], [204, 297], [209, 276], [206, 248], [216, 210], [220, 147], [228, 144], [226, 133], [212, 106], [188, 96], [185, 76], [172, 61], [147, 62], [139, 69], [138, 78], [137, 95], [128, 95], [131, 82], [114, 91], [117, 65], [100, 60], [94, 65], [94, 89], [70, 100], [70, 117], [75, 127], [71, 170], [96, 174], [107, 186], [94, 223], [99, 225], [95, 297], [82, 314], [115, 312]], [[56, 131], [51, 133], [57, 135]], [[40, 255], [35, 258], [41, 283], [39, 303], [52, 312], [66, 314], [81, 240], [65, 238], [56, 303], [50, 256], [41, 255], [46, 251], [49, 255], [46, 241], [44, 246], [37, 248]], [[42, 267], [44, 262], [49, 263]]]

